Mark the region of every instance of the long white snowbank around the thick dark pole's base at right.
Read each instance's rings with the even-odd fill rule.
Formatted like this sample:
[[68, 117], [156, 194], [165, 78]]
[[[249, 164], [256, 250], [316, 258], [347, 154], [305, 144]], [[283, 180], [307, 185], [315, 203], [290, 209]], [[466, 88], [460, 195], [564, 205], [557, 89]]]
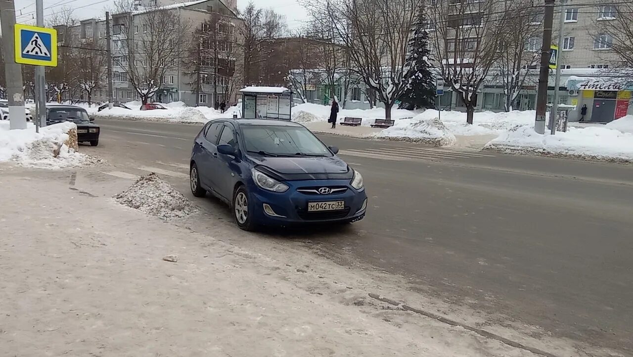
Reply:
[[633, 134], [606, 127], [570, 127], [567, 133], [537, 134], [532, 125], [506, 131], [485, 146], [505, 152], [633, 161]]

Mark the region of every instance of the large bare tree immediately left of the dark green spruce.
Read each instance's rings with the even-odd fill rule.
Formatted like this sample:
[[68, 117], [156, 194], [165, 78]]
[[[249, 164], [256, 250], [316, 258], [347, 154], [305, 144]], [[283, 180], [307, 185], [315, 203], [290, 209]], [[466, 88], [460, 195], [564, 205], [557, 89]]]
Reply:
[[415, 24], [417, 0], [305, 1], [315, 18], [327, 18], [349, 49], [351, 69], [385, 106], [385, 118], [406, 88], [406, 53]]

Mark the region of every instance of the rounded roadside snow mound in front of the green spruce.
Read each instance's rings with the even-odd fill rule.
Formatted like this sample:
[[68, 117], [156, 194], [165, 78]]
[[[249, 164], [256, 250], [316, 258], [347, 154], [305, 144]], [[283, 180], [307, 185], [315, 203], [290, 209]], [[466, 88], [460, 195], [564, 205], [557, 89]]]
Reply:
[[413, 119], [401, 119], [394, 126], [376, 133], [376, 138], [391, 140], [416, 141], [435, 146], [453, 145], [456, 141], [444, 123], [437, 117], [426, 119], [427, 115], [420, 114]]

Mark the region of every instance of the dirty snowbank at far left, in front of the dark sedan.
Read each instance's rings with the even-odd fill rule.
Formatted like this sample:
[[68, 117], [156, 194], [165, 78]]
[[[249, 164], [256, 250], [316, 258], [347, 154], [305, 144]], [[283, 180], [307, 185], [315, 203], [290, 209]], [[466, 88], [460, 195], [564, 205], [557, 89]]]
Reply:
[[0, 162], [13, 161], [28, 167], [60, 169], [89, 162], [90, 157], [76, 152], [77, 126], [63, 122], [42, 127], [9, 130], [9, 122], [0, 122]]

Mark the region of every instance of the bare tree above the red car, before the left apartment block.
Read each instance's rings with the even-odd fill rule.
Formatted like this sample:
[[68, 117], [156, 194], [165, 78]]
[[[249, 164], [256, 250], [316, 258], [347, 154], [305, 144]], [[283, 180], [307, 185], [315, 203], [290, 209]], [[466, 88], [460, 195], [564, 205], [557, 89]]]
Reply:
[[143, 104], [158, 92], [167, 70], [187, 53], [189, 24], [180, 21], [177, 14], [150, 9], [134, 13], [132, 23], [122, 27], [129, 56], [123, 68]]

